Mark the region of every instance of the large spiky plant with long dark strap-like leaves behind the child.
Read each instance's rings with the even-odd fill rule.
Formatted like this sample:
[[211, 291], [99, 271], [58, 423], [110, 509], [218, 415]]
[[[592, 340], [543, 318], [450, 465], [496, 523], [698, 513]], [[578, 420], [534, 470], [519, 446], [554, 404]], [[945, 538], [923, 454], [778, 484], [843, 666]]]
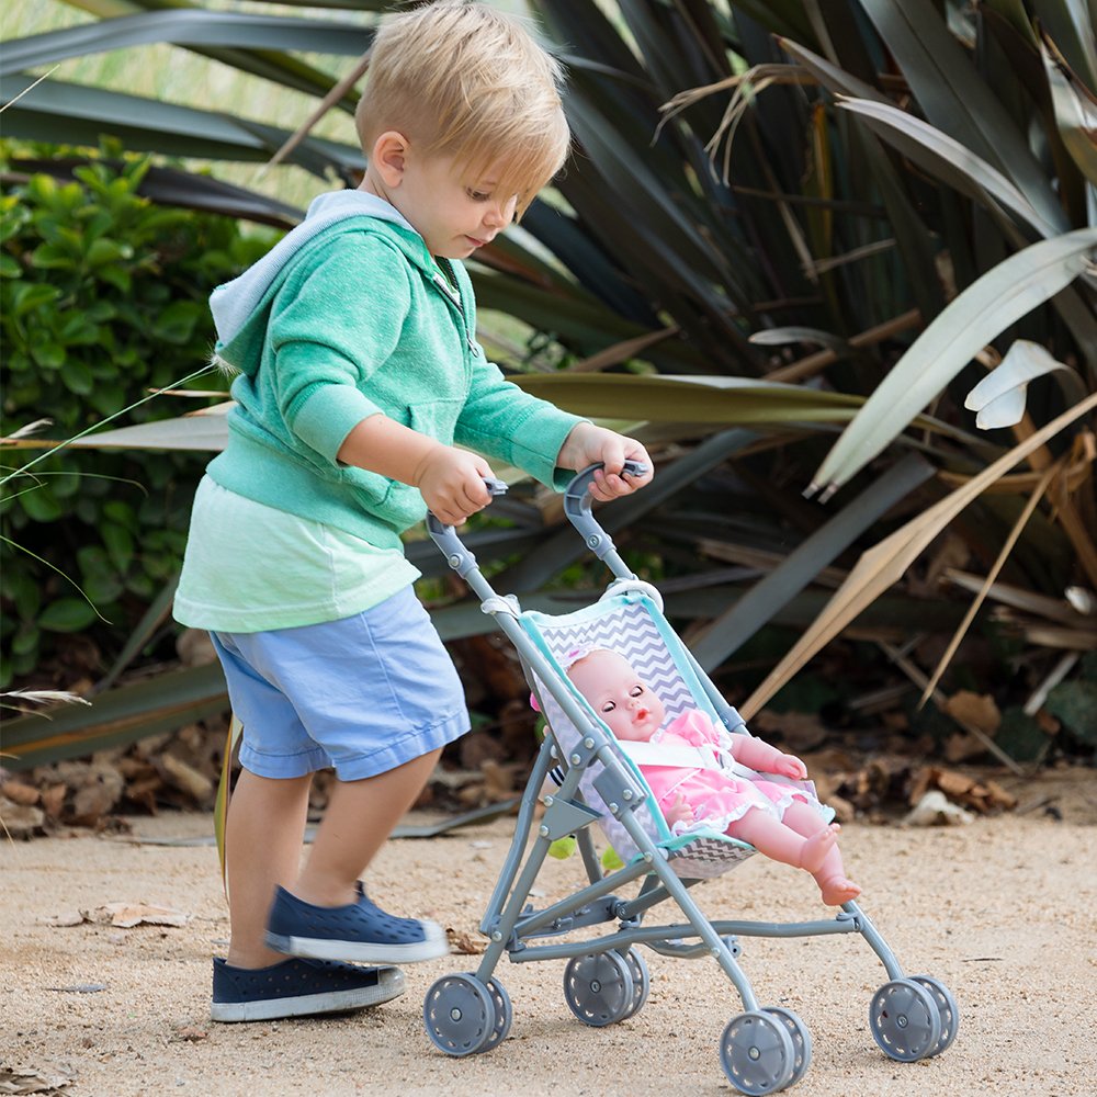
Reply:
[[[341, 15], [289, 19], [276, 4], [262, 16], [161, 0], [77, 5], [111, 18], [10, 43], [5, 100], [50, 60], [170, 41], [351, 109], [349, 88], [293, 58], [357, 56], [369, 42], [367, 26], [349, 33]], [[706, 588], [669, 601], [704, 622], [701, 663], [726, 665], [774, 619], [814, 619], [749, 713], [853, 621], [885, 643], [942, 626], [929, 623], [938, 611], [952, 627], [959, 606], [945, 588], [906, 591], [890, 627], [866, 632], [859, 615], [948, 529], [966, 546], [962, 570], [983, 573], [976, 587], [1034, 641], [1028, 681], [1040, 695], [1064, 657], [1097, 645], [1084, 593], [1064, 600], [1074, 586], [1097, 588], [1097, 48], [1081, 5], [530, 7], [570, 69], [577, 155], [558, 199], [486, 251], [477, 293], [566, 352], [563, 369], [512, 361], [525, 387], [638, 425], [675, 456], [613, 522], [658, 554], [672, 589], [679, 576]], [[8, 133], [77, 142], [113, 129], [135, 148], [214, 160], [267, 158], [289, 137], [223, 113], [89, 95], [44, 81], [11, 105]], [[348, 182], [361, 167], [357, 150], [312, 137], [285, 159]], [[998, 364], [1018, 338], [1050, 352], [1042, 369], [1031, 354]], [[1011, 415], [975, 395], [986, 369]], [[973, 389], [996, 429], [963, 410]], [[850, 419], [832, 446], [833, 423]], [[846, 485], [825, 510], [801, 498]], [[581, 551], [573, 541], [523, 553], [512, 589], [551, 585]], [[825, 569], [877, 542], [817, 612]], [[712, 561], [769, 576], [743, 597]], [[1024, 608], [1007, 590], [1028, 595]], [[936, 678], [925, 676], [927, 693]]]

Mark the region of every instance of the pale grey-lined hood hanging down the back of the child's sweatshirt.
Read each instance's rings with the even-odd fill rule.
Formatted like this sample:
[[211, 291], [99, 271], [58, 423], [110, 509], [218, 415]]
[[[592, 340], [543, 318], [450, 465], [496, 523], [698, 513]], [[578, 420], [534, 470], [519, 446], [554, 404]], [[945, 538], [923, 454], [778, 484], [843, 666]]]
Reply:
[[270, 302], [294, 259], [330, 233], [371, 227], [386, 231], [411, 262], [430, 270], [426, 242], [394, 205], [365, 191], [320, 194], [309, 204], [305, 219], [262, 259], [211, 294], [210, 312], [217, 329], [216, 358], [234, 370], [253, 374], [259, 367]]

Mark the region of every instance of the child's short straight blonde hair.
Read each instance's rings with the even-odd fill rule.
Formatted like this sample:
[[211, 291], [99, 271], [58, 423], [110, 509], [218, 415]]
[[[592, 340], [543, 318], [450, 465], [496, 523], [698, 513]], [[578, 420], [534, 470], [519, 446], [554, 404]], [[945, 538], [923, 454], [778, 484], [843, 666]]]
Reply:
[[354, 122], [366, 156], [395, 129], [452, 156], [471, 185], [489, 168], [521, 216], [564, 166], [564, 70], [510, 15], [454, 2], [392, 16], [377, 32]]

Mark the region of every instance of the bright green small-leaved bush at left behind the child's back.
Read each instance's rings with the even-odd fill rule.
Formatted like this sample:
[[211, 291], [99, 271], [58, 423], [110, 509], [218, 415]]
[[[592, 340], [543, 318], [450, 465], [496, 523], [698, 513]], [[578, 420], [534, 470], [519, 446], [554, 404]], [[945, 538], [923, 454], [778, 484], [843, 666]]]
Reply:
[[[214, 339], [210, 291], [269, 246], [231, 218], [152, 205], [138, 193], [148, 168], [95, 159], [77, 181], [33, 174], [0, 197], [4, 436], [47, 418], [49, 437], [70, 438], [200, 369]], [[211, 373], [202, 387], [225, 382]], [[159, 398], [116, 426], [194, 407]], [[5, 451], [4, 476], [27, 452]], [[207, 460], [69, 450], [9, 480], [0, 685], [41, 670], [58, 634], [87, 633], [103, 659], [122, 646], [178, 572]]]

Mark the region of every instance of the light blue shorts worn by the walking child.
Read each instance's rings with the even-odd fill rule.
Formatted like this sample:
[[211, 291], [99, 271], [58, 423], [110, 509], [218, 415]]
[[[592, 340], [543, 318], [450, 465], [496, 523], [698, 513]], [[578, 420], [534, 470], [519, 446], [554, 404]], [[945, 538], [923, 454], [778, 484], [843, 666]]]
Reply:
[[411, 587], [339, 621], [211, 635], [244, 724], [240, 764], [259, 777], [335, 767], [358, 781], [468, 731], [461, 680]]

